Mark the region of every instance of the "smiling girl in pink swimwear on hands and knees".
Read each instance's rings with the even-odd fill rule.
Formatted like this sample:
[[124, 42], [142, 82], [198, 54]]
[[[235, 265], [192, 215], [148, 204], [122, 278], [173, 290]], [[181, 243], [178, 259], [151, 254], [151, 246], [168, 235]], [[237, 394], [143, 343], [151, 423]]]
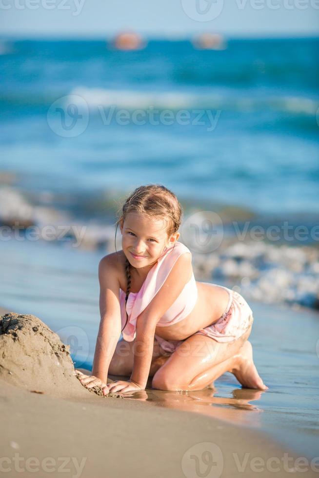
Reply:
[[[200, 390], [228, 371], [243, 387], [268, 389], [247, 340], [251, 308], [237, 292], [195, 280], [191, 252], [178, 241], [181, 216], [175, 194], [158, 184], [126, 199], [122, 250], [99, 264], [101, 320], [84, 386], [134, 392], [151, 376], [153, 388]], [[106, 384], [108, 374], [130, 378]]]

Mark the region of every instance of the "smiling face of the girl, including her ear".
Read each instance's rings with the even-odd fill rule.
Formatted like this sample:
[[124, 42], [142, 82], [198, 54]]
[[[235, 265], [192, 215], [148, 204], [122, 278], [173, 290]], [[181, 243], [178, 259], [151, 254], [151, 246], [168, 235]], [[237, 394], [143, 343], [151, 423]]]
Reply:
[[120, 223], [122, 249], [129, 262], [136, 268], [145, 267], [156, 261], [165, 247], [174, 244], [179, 233], [167, 237], [166, 221], [152, 219], [135, 212], [126, 215]]

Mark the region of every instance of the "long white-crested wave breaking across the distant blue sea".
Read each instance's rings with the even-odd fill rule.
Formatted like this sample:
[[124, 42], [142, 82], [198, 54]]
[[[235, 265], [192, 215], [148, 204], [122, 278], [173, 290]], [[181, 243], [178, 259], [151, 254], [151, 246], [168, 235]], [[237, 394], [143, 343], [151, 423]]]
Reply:
[[142, 110], [147, 111], [150, 107], [159, 111], [171, 110], [222, 110], [235, 111], [238, 113], [249, 112], [273, 112], [286, 115], [300, 115], [316, 118], [319, 115], [319, 98], [309, 98], [302, 96], [279, 96], [265, 95], [257, 96], [258, 92], [252, 91], [247, 95], [238, 94], [234, 90], [225, 89], [223, 93], [192, 93], [192, 92], [152, 92], [128, 89], [107, 89], [107, 88], [87, 88], [78, 86], [73, 88], [67, 94], [41, 92], [2, 92], [0, 95], [0, 104], [3, 108], [25, 108], [28, 110], [36, 109], [47, 111], [52, 103], [57, 100], [61, 105], [68, 105], [70, 102], [76, 103], [79, 97], [79, 103], [82, 100], [88, 105], [91, 113], [99, 113], [101, 108], [114, 107], [117, 110], [125, 109], [128, 111]]

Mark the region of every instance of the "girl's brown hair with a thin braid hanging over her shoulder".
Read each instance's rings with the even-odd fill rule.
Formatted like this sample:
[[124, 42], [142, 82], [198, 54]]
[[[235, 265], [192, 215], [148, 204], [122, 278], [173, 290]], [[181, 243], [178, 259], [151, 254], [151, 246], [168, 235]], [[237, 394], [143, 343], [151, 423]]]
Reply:
[[[124, 223], [126, 215], [133, 211], [149, 216], [153, 219], [167, 220], [166, 234], [168, 238], [179, 230], [183, 214], [182, 206], [175, 194], [161, 184], [146, 184], [145, 186], [139, 186], [133, 191], [133, 193], [126, 199], [123, 206], [120, 207], [118, 212], [118, 214], [120, 213], [119, 219], [116, 221], [116, 231], [120, 222]], [[131, 267], [133, 268], [129, 260], [125, 258], [125, 275], [127, 279], [125, 310], [127, 298], [131, 289]], [[121, 332], [125, 329], [127, 320], [128, 315], [126, 312], [126, 322]]]

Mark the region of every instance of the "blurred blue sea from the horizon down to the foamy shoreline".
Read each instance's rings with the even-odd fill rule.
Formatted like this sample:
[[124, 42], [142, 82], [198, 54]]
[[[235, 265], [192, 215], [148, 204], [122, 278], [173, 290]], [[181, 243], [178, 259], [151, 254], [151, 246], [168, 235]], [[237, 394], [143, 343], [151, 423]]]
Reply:
[[1, 51], [0, 171], [35, 202], [62, 195], [81, 214], [86, 198], [159, 182], [194, 203], [318, 213], [319, 39]]

